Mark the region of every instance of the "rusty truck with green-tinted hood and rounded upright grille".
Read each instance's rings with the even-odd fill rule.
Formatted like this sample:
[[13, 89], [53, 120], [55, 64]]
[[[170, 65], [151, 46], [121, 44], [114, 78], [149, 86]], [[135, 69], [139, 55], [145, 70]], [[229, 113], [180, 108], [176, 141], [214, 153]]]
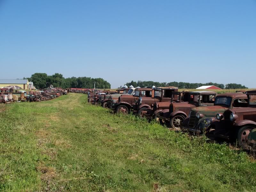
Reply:
[[213, 106], [192, 108], [189, 117], [184, 119], [181, 127], [192, 133], [208, 134], [213, 131], [210, 125], [217, 120], [217, 114], [223, 114], [228, 109], [239, 110], [244, 107], [247, 107], [246, 94], [242, 92], [218, 94]]

